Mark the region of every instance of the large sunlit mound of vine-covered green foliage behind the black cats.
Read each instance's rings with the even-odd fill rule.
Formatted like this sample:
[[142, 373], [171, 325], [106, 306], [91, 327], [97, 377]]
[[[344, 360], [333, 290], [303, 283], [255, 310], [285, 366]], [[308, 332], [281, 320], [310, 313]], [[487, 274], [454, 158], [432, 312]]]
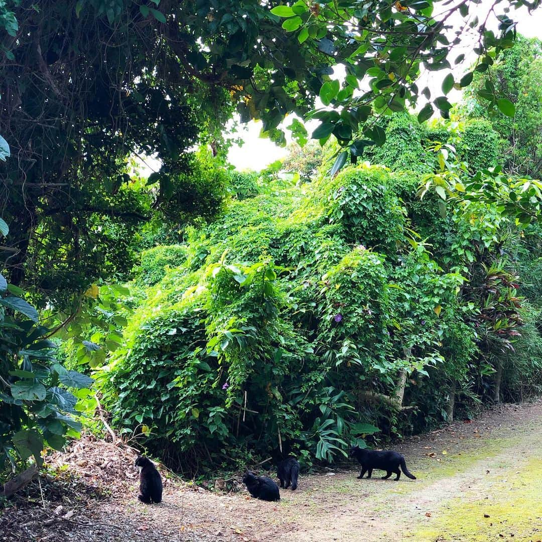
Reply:
[[438, 196], [416, 201], [418, 182], [367, 164], [267, 180], [192, 228], [100, 373], [114, 423], [150, 428], [146, 445], [193, 473], [269, 450], [332, 461], [372, 423], [397, 435], [448, 420], [455, 398], [456, 414], [487, 399], [495, 352], [521, 325], [491, 264], [508, 222], [450, 201], [431, 255], [415, 229]]

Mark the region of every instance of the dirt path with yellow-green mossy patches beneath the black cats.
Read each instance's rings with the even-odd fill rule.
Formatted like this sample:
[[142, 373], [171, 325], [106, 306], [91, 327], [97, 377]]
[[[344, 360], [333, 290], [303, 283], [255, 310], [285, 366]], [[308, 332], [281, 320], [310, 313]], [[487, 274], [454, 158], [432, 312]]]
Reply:
[[498, 406], [396, 449], [417, 480], [380, 480], [379, 471], [358, 480], [352, 465], [302, 476], [278, 504], [167, 480], [164, 502], [154, 506], [137, 501], [134, 481], [111, 499], [80, 507], [72, 522], [32, 523], [27, 538], [13, 528], [24, 509], [8, 509], [0, 540], [542, 541], [542, 402]]

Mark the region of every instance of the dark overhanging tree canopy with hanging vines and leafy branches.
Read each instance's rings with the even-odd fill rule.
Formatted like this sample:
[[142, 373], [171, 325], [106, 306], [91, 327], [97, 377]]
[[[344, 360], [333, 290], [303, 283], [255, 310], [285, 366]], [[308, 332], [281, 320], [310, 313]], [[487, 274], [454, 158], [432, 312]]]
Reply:
[[[538, 2], [494, 2], [484, 14], [493, 16], [499, 5], [532, 9]], [[479, 6], [474, 0], [2, 1], [0, 125], [11, 158], [0, 176], [11, 224], [3, 250], [11, 281], [24, 283], [29, 262], [49, 245], [64, 247], [55, 261], [66, 273], [79, 270], [81, 280], [106, 268], [121, 272], [127, 254], [111, 248], [131, 235], [125, 224], [133, 228], [146, 216], [140, 198], [125, 188], [127, 157], [135, 151], [162, 160], [151, 179], [159, 185], [157, 208], [171, 198], [172, 179], [190, 168], [194, 143], [220, 147], [235, 107], [242, 121], [261, 119], [263, 131], [283, 142], [278, 126], [285, 115], [303, 116], [320, 96], [330, 108], [309, 115], [321, 120], [313, 137], [334, 134], [349, 147], [337, 167], [349, 153], [355, 160], [365, 146], [382, 143], [375, 114], [415, 104], [423, 94], [433, 105], [422, 109], [422, 120], [433, 106], [446, 116], [445, 95], [454, 85], [467, 86], [472, 74], [459, 82], [447, 76], [443, 95], [434, 97], [416, 85], [421, 65], [449, 68], [468, 28], [480, 35], [478, 71], [513, 43], [512, 19], [500, 16], [495, 35], [485, 29], [486, 16], [473, 15]], [[454, 17], [460, 25], [450, 39]], [[347, 72], [342, 85], [330, 79], [338, 63]], [[356, 93], [365, 77], [369, 89]], [[506, 98], [492, 95], [489, 102], [513, 112]], [[300, 122], [291, 128], [306, 139]], [[109, 235], [104, 221], [122, 235]]]

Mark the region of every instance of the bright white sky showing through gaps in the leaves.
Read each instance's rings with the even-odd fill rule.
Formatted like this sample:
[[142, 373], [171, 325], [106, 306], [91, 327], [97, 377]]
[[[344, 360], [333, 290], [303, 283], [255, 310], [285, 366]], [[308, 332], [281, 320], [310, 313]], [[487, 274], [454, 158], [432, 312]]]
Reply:
[[[492, 5], [491, 0], [484, 0], [481, 4], [478, 5], [477, 11], [480, 11], [479, 18], [482, 21], [487, 14], [487, 10]], [[475, 8], [473, 6], [471, 9]], [[459, 14], [457, 14], [459, 16]], [[475, 15], [472, 13], [472, 15]], [[518, 33], [526, 37], [538, 37], [542, 39], [542, 8], [534, 11], [532, 14], [529, 14], [526, 8], [522, 8], [519, 11], [514, 11], [511, 9], [511, 12], [508, 14], [515, 21], [518, 21], [517, 29]], [[459, 24], [461, 20], [457, 18], [456, 21], [450, 21], [454, 24], [454, 27]], [[496, 20], [494, 17], [490, 17], [488, 20], [487, 28], [495, 31], [496, 34]], [[454, 31], [448, 34], [450, 41], [454, 39]], [[476, 46], [476, 39], [474, 36], [462, 36], [462, 43], [454, 48], [454, 53], [449, 57], [450, 63], [453, 64], [453, 60], [456, 56], [463, 53], [466, 56], [466, 61], [460, 64], [459, 66], [453, 69], [454, 77], [456, 80], [459, 80], [464, 72], [467, 71], [467, 68], [470, 63], [475, 59], [473, 48]], [[441, 85], [444, 77], [449, 73], [449, 70], [442, 70], [441, 72], [425, 72], [422, 73], [420, 80], [418, 80], [418, 87], [422, 89], [425, 86], [428, 86], [431, 90], [431, 96], [435, 98], [436, 96], [442, 95]], [[335, 70], [335, 75], [333, 78], [342, 79], [341, 73], [339, 70]], [[448, 94], [448, 99], [451, 103], [457, 102], [461, 99], [461, 92], [452, 90]], [[420, 99], [420, 104], [423, 106], [424, 98]], [[421, 107], [420, 106], [420, 107]], [[438, 113], [436, 113], [438, 114]], [[289, 126], [292, 122], [292, 117], [287, 117], [281, 126]], [[313, 121], [307, 126], [309, 134], [311, 130], [314, 130], [318, 126], [318, 121]], [[262, 123], [251, 121], [248, 125], [245, 125], [246, 128], [240, 128], [240, 130], [235, 134], [235, 137], [240, 137], [244, 140], [244, 145], [241, 147], [234, 145], [231, 147], [228, 159], [231, 164], [233, 164], [239, 170], [261, 170], [263, 167], [266, 167], [268, 164], [278, 160], [279, 158], [284, 158], [287, 154], [286, 149], [276, 146], [272, 141], [265, 138], [260, 138], [260, 130]], [[286, 131], [287, 138], [289, 137], [289, 132]], [[288, 138], [288, 141], [290, 139]]]

